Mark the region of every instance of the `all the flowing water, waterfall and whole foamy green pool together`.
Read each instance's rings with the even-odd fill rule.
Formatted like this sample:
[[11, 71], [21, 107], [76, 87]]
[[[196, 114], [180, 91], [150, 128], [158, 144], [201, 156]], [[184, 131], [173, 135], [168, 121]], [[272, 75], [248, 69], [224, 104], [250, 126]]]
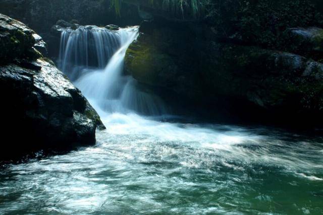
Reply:
[[322, 137], [171, 116], [123, 74], [137, 36], [62, 33], [60, 67], [107, 129], [94, 147], [0, 171], [1, 214], [323, 213]]

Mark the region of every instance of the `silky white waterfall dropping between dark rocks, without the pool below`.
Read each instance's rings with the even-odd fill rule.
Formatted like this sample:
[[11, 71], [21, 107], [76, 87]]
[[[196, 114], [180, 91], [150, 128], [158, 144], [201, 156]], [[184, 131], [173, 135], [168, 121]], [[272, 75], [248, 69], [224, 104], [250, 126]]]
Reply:
[[123, 75], [127, 48], [138, 35], [138, 27], [111, 31], [82, 26], [62, 32], [59, 67], [99, 114], [168, 112], [159, 97], [140, 90], [136, 80]]

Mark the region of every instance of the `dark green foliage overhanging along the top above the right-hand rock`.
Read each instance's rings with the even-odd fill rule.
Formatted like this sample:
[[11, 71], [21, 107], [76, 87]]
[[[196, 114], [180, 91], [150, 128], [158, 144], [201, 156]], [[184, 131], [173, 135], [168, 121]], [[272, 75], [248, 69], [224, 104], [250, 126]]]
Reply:
[[[124, 0], [111, 1], [120, 16]], [[137, 4], [176, 18], [202, 19], [220, 37], [279, 50], [289, 45], [288, 50], [292, 51], [288, 28], [323, 26], [323, 16], [315, 1], [141, 0]]]

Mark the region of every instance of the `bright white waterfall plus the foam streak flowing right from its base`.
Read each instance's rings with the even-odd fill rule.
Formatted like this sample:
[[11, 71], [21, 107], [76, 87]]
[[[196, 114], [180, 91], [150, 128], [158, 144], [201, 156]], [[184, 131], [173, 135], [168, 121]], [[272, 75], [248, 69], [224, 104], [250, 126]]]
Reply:
[[[299, 156], [293, 158], [293, 154], [287, 156], [288, 159], [286, 159], [287, 157], [272, 156], [270, 150], [266, 150], [267, 146], [261, 145], [265, 139], [266, 141], [270, 139], [267, 135], [258, 134], [262, 129], [258, 128], [256, 132], [249, 132], [242, 127], [159, 122], [161, 116], [163, 119], [170, 116], [165, 115], [168, 108], [163, 101], [157, 96], [138, 90], [137, 82], [122, 74], [127, 48], [137, 39], [138, 35], [138, 27], [109, 31], [90, 26], [62, 33], [61, 49], [64, 51], [60, 55], [68, 56], [62, 58], [63, 65], [72, 64], [74, 67], [78, 67], [79, 64], [87, 65], [89, 60], [84, 57], [89, 58], [88, 52], [94, 53], [95, 59], [98, 59], [98, 68], [86, 67], [85, 71], [81, 71], [82, 75], [74, 81], [74, 84], [97, 110], [107, 127], [106, 131], [97, 133], [99, 142], [105, 142], [106, 137], [112, 134], [144, 135], [149, 136], [149, 139], [153, 138], [149, 142], [176, 142], [176, 144], [181, 142], [186, 147], [212, 149], [216, 151], [216, 154], [225, 154], [225, 162], [238, 160], [246, 162], [246, 165], [259, 162], [261, 165], [274, 166], [284, 163], [286, 170], [293, 172], [298, 177], [321, 180], [321, 178], [301, 173], [310, 166], [314, 169], [323, 168], [323, 164], [320, 162], [317, 165], [308, 161], [303, 162], [299, 160]], [[86, 54], [82, 56], [84, 55], [82, 51], [85, 49]], [[114, 50], [115, 53], [111, 54]], [[103, 64], [102, 60], [108, 62], [104, 68], [100, 68]], [[63, 66], [63, 68], [65, 67]], [[71, 75], [68, 71], [65, 73]], [[140, 114], [150, 115], [150, 117]], [[136, 139], [136, 137], [134, 138]], [[274, 146], [284, 151], [283, 148], [286, 146], [283, 146], [282, 143], [285, 142], [277, 139]], [[250, 153], [250, 150], [245, 150], [245, 147], [254, 148], [256, 153]], [[258, 150], [258, 148], [264, 150]], [[285, 153], [288, 154], [286, 151]], [[201, 161], [196, 162], [200, 163]], [[182, 162], [181, 164], [199, 167], [197, 163]], [[224, 165], [231, 167], [228, 163]]]

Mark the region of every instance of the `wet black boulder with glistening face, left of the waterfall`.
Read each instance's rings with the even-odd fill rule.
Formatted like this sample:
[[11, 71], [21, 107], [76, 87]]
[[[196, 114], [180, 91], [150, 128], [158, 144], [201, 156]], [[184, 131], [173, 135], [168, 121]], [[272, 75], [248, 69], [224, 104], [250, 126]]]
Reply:
[[43, 41], [35, 37], [23, 23], [0, 14], [1, 159], [93, 145], [95, 129], [104, 128], [81, 92], [36, 50]]

